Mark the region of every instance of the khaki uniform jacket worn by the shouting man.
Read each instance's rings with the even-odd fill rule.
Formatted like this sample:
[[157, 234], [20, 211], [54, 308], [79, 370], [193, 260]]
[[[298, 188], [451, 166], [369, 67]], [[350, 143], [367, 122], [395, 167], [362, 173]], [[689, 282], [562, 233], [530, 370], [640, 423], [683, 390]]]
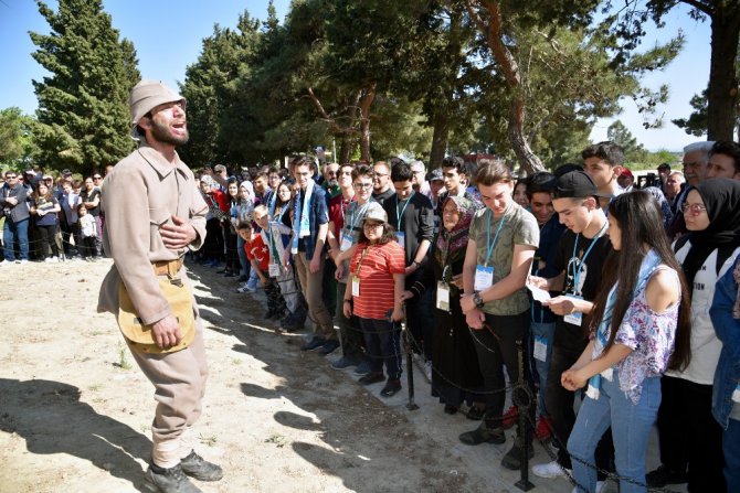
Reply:
[[[205, 238], [208, 213], [192, 171], [177, 154], [176, 160], [177, 164], [172, 165], [142, 142], [139, 149], [120, 160], [103, 182], [103, 245], [106, 254], [113, 257], [114, 266], [101, 286], [98, 312], [118, 314], [118, 285], [123, 280], [145, 324], [158, 322], [171, 313], [151, 264], [176, 260], [186, 254], [186, 249], [166, 248], [159, 227], [171, 223], [173, 215], [190, 219], [198, 237], [189, 248], [197, 250]], [[180, 274], [186, 277], [184, 268]]]

